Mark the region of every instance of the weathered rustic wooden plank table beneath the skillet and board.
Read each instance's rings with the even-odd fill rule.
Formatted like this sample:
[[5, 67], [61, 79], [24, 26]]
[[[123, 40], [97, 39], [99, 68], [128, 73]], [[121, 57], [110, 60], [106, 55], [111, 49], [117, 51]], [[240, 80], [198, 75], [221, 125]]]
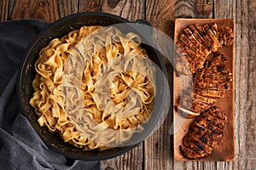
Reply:
[[[145, 19], [173, 37], [175, 18], [234, 18], [236, 161], [175, 162], [172, 112], [163, 125], [125, 155], [102, 161], [103, 169], [256, 168], [256, 1], [255, 0], [0, 0], [0, 21], [33, 18], [53, 22], [69, 14], [102, 11], [128, 20]], [[172, 70], [168, 65], [170, 75]], [[172, 77], [171, 81], [172, 81]]]

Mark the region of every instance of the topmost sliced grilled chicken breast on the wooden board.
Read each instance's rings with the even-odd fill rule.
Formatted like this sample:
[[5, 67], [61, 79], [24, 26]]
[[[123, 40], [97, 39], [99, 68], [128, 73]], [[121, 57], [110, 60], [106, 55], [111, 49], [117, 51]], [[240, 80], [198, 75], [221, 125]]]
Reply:
[[[187, 54], [190, 58], [190, 72], [188, 69], [183, 69], [183, 59], [176, 59], [178, 76], [184, 74], [193, 74], [198, 69], [201, 69], [207, 59], [207, 56], [218, 50], [223, 45], [230, 46], [234, 42], [234, 32], [229, 26], [218, 25], [216, 23], [200, 26], [198, 24], [191, 25], [183, 30], [183, 33], [178, 37], [176, 42], [177, 50], [176, 57], [181, 57], [181, 54]], [[215, 62], [219, 63], [224, 60], [220, 56]], [[213, 65], [214, 63], [212, 63]], [[193, 68], [192, 66], [193, 65]]]

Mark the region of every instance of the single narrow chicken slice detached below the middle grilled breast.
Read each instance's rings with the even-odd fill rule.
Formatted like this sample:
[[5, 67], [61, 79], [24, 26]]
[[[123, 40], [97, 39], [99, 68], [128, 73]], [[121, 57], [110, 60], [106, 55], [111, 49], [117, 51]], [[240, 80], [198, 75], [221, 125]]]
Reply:
[[220, 90], [193, 88], [193, 92], [195, 94], [199, 94], [206, 97], [224, 98], [224, 91], [220, 91]]

